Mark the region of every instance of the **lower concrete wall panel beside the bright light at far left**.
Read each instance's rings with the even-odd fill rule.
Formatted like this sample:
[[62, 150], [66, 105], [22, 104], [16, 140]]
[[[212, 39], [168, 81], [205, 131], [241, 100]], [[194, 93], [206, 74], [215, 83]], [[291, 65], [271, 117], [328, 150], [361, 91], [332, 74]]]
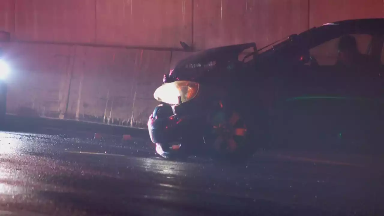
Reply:
[[8, 113], [56, 116], [65, 95], [69, 48], [22, 43], [4, 43], [2, 47], [12, 70], [8, 77]]

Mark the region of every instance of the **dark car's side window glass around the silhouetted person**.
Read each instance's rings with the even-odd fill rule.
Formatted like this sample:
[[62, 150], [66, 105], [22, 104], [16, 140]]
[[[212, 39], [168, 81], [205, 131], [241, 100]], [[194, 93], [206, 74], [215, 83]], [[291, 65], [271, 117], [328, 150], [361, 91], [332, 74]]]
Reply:
[[[361, 54], [368, 54], [371, 35], [351, 35], [356, 39], [358, 50]], [[310, 55], [314, 57], [319, 65], [335, 65], [338, 60], [338, 44], [340, 38], [334, 38], [328, 42], [322, 43], [317, 47], [310, 49]]]

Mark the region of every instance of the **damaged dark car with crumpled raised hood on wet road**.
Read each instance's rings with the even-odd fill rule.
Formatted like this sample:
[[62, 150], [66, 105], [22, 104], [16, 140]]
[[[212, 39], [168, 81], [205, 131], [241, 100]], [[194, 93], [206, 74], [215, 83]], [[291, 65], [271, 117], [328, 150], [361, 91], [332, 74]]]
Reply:
[[[154, 93], [148, 128], [165, 158], [245, 159], [263, 148], [364, 150], [384, 135], [384, 19], [327, 23], [257, 49], [180, 61]], [[345, 146], [344, 146], [345, 147]]]

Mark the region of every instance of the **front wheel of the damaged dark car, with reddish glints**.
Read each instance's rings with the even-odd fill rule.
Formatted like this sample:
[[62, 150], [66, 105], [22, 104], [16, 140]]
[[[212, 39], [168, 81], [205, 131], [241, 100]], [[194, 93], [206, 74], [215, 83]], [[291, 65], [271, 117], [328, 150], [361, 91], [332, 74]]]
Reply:
[[[218, 104], [218, 108], [208, 117], [209, 128], [204, 136], [205, 145], [215, 158], [232, 162], [247, 161], [268, 143], [269, 126], [262, 117], [266, 115], [223, 105], [221, 101]], [[258, 114], [255, 116], [253, 113]]]

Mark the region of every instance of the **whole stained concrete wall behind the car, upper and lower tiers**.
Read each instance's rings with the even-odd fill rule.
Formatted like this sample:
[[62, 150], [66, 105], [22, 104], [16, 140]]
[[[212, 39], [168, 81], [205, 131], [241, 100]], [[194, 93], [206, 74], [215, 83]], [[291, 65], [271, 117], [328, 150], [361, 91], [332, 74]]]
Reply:
[[[1, 0], [8, 112], [144, 123], [162, 75], [205, 49], [262, 47], [326, 22], [384, 17], [382, 0]], [[110, 117], [110, 118], [109, 118]]]

